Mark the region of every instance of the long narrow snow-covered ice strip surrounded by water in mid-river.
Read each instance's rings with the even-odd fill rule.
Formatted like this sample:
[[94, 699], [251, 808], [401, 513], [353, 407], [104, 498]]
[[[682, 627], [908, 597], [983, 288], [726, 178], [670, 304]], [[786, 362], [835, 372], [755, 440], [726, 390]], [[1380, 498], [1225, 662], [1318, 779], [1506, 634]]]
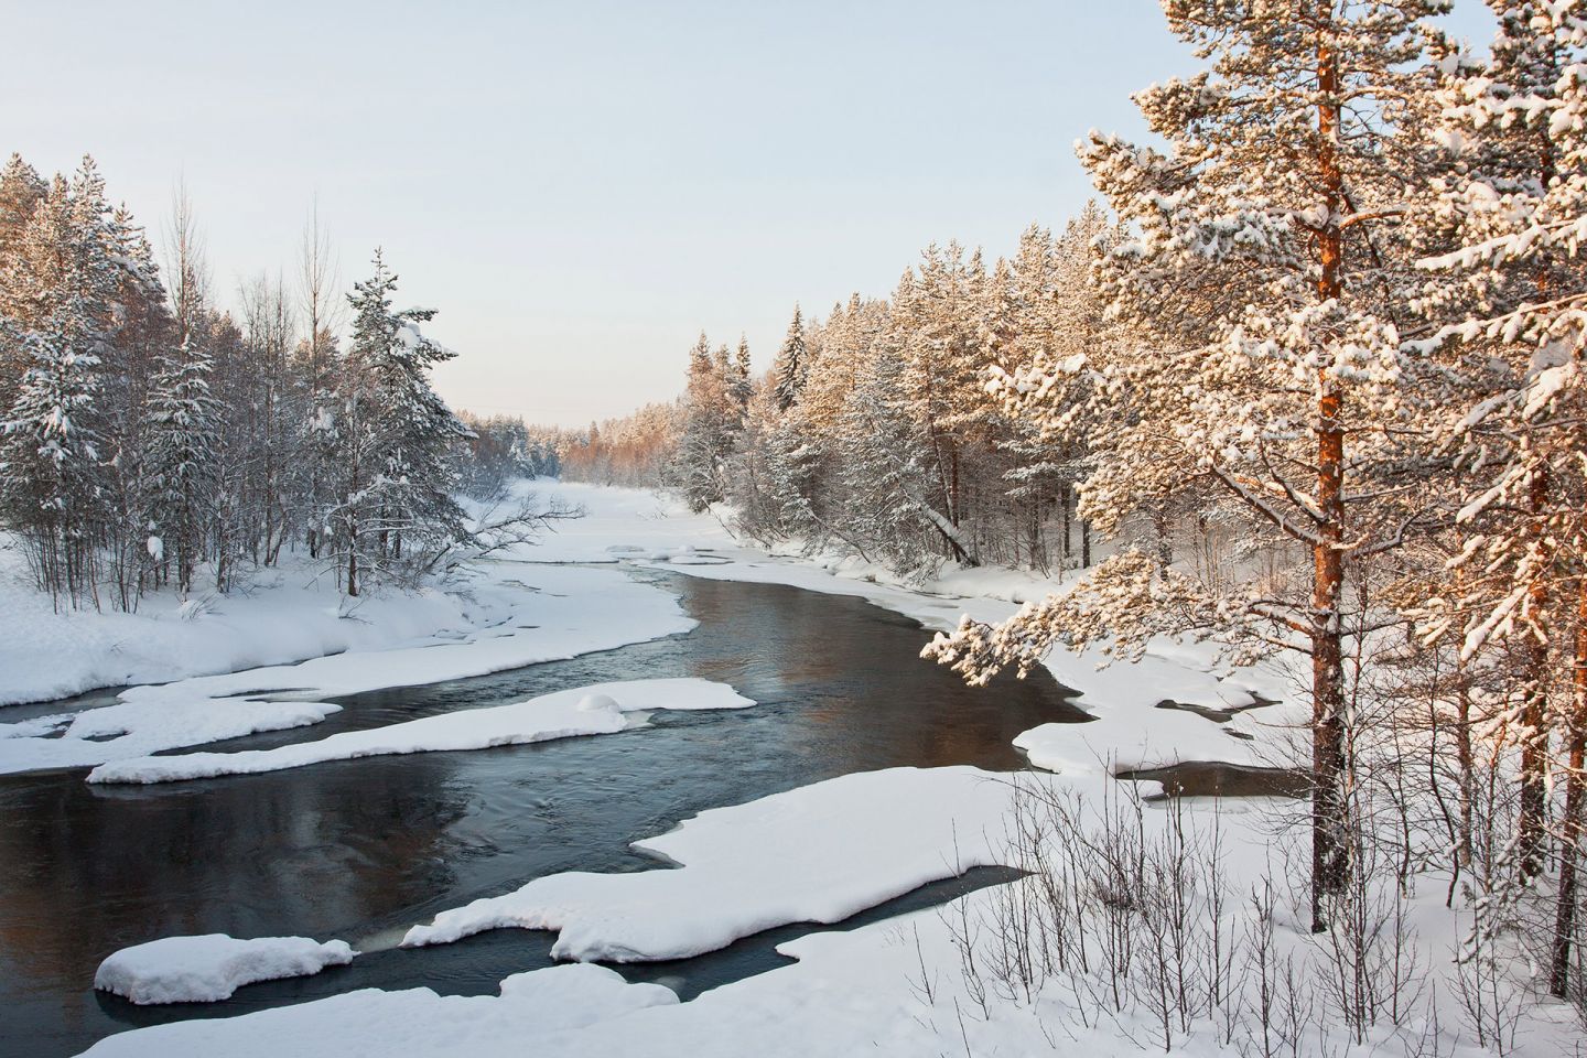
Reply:
[[[743, 709], [755, 704], [725, 684], [703, 679], [647, 679], [595, 684], [489, 709], [463, 709], [368, 731], [343, 731], [317, 742], [298, 742], [236, 753], [136, 757], [102, 765], [89, 782], [175, 782], [213, 776], [244, 776], [303, 768], [327, 760], [490, 749], [606, 734], [627, 726], [625, 712], [649, 709]], [[0, 744], [3, 746], [3, 744]]]

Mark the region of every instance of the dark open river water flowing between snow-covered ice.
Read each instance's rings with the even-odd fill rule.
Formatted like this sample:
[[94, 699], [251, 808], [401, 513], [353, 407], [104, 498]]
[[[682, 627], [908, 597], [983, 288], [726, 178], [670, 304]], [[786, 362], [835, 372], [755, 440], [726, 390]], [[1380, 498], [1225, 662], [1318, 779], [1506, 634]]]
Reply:
[[[627, 844], [701, 809], [895, 765], [1013, 769], [1014, 734], [1082, 715], [1046, 673], [963, 687], [919, 660], [919, 625], [859, 600], [687, 577], [663, 587], [700, 622], [690, 634], [355, 695], [325, 723], [216, 747], [317, 739], [617, 679], [698, 676], [759, 706], [659, 712], [652, 728], [600, 738], [157, 787], [89, 787], [81, 769], [0, 777], [0, 1055], [73, 1055], [135, 1025], [365, 987], [494, 995], [501, 977], [548, 964], [551, 934], [379, 949], [438, 910], [544, 874], [660, 869]], [[1000, 877], [979, 871], [928, 887], [865, 920]], [[773, 945], [809, 930], [622, 969], [689, 998], [779, 964]], [[111, 952], [184, 933], [341, 937], [370, 953], [219, 1004], [133, 1007], [92, 990]]]

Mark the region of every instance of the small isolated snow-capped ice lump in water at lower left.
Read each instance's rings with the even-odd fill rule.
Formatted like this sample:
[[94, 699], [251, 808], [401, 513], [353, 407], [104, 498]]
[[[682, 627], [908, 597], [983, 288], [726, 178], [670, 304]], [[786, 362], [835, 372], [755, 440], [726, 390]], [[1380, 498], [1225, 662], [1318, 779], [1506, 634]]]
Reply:
[[94, 987], [136, 1004], [217, 1002], [256, 980], [308, 977], [357, 955], [344, 941], [254, 937], [224, 933], [162, 937], [122, 949], [100, 963]]

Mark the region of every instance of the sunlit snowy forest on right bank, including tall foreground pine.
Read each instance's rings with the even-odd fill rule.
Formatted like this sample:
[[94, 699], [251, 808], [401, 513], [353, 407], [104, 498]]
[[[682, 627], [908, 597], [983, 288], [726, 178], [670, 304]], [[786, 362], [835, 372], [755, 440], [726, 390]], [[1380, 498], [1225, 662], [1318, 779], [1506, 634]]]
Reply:
[[763, 378], [701, 335], [562, 466], [905, 577], [1084, 568], [932, 644], [971, 682], [1159, 634], [1297, 658], [1314, 926], [1438, 864], [1581, 1002], [1587, 19], [1495, 3], [1479, 59], [1438, 6], [1165, 5], [1208, 68], [1136, 95], [1162, 146], [1076, 146], [1101, 200], [1057, 235], [795, 309]]

